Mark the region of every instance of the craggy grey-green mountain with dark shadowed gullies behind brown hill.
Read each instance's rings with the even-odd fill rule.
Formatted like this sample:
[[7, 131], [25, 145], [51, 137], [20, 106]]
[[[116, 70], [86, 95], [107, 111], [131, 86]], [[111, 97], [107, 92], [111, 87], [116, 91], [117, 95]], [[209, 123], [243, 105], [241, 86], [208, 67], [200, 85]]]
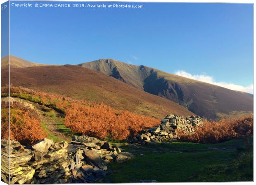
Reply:
[[176, 102], [208, 119], [241, 116], [253, 111], [253, 95], [169, 74], [147, 66], [131, 65], [113, 59], [85, 62], [93, 69], [147, 93]]

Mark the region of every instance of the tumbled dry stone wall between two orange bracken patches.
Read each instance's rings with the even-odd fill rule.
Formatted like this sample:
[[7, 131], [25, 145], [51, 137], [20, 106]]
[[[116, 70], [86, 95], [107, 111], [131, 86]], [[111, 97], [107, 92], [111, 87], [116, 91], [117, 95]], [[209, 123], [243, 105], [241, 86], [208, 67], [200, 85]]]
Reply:
[[160, 143], [164, 141], [176, 141], [179, 139], [177, 129], [187, 134], [194, 132], [194, 128], [203, 125], [203, 119], [200, 116], [190, 116], [183, 118], [175, 114], [167, 115], [161, 120], [161, 124], [148, 130], [142, 130], [135, 136], [132, 142], [135, 143]]

